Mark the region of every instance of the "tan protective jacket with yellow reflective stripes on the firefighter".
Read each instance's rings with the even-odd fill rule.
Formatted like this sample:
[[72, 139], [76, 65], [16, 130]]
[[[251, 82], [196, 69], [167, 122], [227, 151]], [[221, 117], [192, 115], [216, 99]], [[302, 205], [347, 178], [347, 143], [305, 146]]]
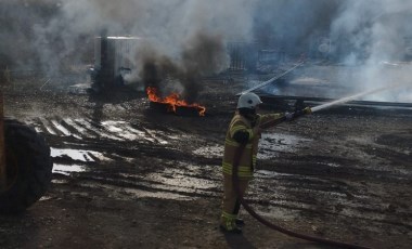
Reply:
[[258, 129], [254, 128], [282, 119], [285, 119], [284, 114], [256, 115], [255, 120], [248, 120], [244, 116], [236, 113], [230, 122], [224, 140], [224, 153], [222, 162], [223, 174], [232, 174], [236, 149], [241, 146], [241, 143], [236, 142], [234, 139], [234, 135], [236, 132], [241, 131], [248, 134], [248, 140], [241, 155], [237, 176], [240, 179], [250, 180], [253, 178], [253, 172], [256, 166], [258, 143], [260, 139], [260, 133], [257, 132]]

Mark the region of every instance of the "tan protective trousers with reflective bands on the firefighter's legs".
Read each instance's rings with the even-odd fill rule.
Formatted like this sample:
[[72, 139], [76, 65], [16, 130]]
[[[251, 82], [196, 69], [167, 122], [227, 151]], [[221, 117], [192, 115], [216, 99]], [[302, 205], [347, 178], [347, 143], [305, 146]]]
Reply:
[[[243, 196], [249, 184], [249, 180], [239, 179], [240, 194]], [[228, 231], [234, 230], [235, 220], [237, 218], [241, 202], [234, 189], [232, 175], [223, 173], [223, 201], [222, 201], [222, 214], [220, 217], [220, 224]]]

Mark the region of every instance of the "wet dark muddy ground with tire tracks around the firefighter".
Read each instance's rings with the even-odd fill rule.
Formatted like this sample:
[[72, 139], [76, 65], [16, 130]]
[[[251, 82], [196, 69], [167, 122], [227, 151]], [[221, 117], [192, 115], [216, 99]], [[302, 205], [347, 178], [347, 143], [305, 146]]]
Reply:
[[[236, 82], [204, 82], [205, 117], [154, 110], [130, 89], [92, 97], [69, 93], [76, 80], [25, 82], [5, 87], [5, 114], [44, 135], [53, 181], [25, 213], [0, 217], [0, 248], [334, 248], [271, 231], [244, 210], [243, 235], [219, 232]], [[247, 199], [295, 232], [410, 248], [411, 150], [412, 110], [314, 113], [263, 132]]]

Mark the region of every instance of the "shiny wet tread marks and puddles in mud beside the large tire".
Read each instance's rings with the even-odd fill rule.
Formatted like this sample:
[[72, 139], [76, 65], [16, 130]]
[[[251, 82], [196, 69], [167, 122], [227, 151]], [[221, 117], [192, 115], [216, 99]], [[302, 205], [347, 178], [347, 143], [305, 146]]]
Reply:
[[66, 174], [94, 170], [96, 163], [119, 159], [136, 161], [136, 155], [155, 155], [151, 150], [169, 143], [167, 134], [157, 135], [144, 126], [127, 121], [39, 117], [25, 122], [47, 137], [55, 168]]

